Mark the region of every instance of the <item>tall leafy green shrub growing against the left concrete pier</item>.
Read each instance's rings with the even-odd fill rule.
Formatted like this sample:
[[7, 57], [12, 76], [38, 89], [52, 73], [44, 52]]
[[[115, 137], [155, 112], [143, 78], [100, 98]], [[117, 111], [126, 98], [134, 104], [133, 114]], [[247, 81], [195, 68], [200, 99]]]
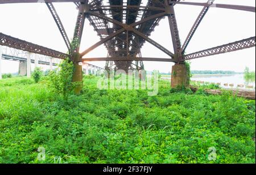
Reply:
[[67, 100], [68, 96], [73, 93], [76, 85], [72, 82], [73, 69], [73, 62], [65, 59], [58, 65], [58, 69], [49, 72], [49, 87], [64, 100]]

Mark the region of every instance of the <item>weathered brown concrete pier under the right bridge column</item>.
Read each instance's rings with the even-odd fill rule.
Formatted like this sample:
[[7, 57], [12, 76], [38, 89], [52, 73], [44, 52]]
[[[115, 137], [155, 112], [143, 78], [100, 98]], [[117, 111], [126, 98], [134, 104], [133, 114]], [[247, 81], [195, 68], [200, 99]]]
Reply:
[[172, 76], [171, 76], [171, 87], [175, 88], [177, 86], [188, 87], [188, 75], [187, 67], [183, 64], [175, 64], [172, 66]]

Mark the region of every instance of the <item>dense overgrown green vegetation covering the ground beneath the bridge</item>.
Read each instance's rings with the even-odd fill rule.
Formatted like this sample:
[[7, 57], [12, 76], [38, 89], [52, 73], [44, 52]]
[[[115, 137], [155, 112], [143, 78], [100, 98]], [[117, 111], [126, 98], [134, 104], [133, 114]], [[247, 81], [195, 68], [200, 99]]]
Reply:
[[85, 76], [82, 95], [63, 101], [46, 81], [0, 80], [0, 163], [255, 163], [253, 100], [170, 91], [168, 81], [158, 96], [99, 90]]

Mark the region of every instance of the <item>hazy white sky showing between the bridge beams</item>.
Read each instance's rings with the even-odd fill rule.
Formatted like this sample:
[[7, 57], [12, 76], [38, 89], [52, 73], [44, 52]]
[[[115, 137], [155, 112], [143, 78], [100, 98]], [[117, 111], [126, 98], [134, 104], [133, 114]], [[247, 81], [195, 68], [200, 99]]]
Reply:
[[[146, 5], [146, 2], [143, 1], [144, 5]], [[207, 2], [207, 0], [191, 2]], [[255, 6], [254, 0], [216, 0], [215, 3]], [[77, 16], [76, 6], [73, 3], [54, 3], [54, 5], [69, 38], [72, 38]], [[182, 44], [202, 8], [188, 5], [175, 6]], [[44, 3], [0, 5], [0, 32], [61, 52], [67, 52], [67, 47], [60, 32]], [[193, 36], [186, 53], [212, 48], [251, 36], [255, 36], [254, 12], [210, 8]], [[173, 52], [167, 18], [160, 22], [160, 25], [155, 28], [155, 32], [150, 37]], [[88, 20], [86, 20], [80, 51], [82, 52], [89, 48], [89, 46], [97, 41], [99, 41], [97, 33], [89, 25]], [[86, 57], [106, 57], [106, 55], [106, 49], [102, 45], [90, 52]], [[168, 58], [166, 54], [149, 43], [144, 44], [142, 56]], [[101, 67], [105, 66], [105, 62], [90, 63]], [[3, 72], [18, 71], [18, 62], [2, 61], [2, 65], [4, 65], [2, 66]], [[144, 65], [146, 70], [169, 72], [174, 63], [144, 62]], [[255, 70], [255, 48], [193, 59], [191, 61], [192, 70], [243, 71], [246, 66], [250, 70]]]

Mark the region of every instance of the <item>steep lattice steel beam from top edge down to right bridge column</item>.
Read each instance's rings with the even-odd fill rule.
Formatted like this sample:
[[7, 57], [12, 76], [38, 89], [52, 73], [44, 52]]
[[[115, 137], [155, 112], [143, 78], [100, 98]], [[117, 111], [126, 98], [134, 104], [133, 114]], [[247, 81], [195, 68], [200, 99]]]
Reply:
[[189, 42], [191, 41], [193, 35], [195, 34], [196, 29], [199, 27], [201, 21], [203, 20], [204, 16], [207, 14], [207, 12], [210, 8], [210, 5], [212, 5], [213, 2], [214, 2], [214, 0], [209, 0], [207, 5], [205, 5], [203, 10], [200, 12], [199, 16], [196, 19], [196, 22], [193, 24], [193, 27], [191, 28], [190, 32], [188, 33], [187, 39], [185, 40], [185, 42], [181, 48], [182, 53], [184, 53], [185, 50], [187, 49], [187, 46], [188, 46]]

